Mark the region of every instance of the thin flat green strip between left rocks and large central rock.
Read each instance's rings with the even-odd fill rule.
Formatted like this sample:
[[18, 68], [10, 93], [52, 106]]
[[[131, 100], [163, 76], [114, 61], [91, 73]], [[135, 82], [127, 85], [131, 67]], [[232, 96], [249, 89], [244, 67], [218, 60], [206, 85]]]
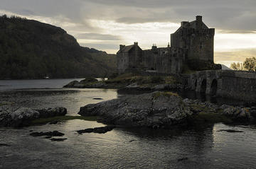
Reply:
[[97, 116], [55, 116], [55, 117], [49, 117], [49, 118], [40, 118], [33, 120], [31, 124], [46, 124], [48, 122], [65, 122], [68, 120], [87, 120], [87, 121], [97, 121]]

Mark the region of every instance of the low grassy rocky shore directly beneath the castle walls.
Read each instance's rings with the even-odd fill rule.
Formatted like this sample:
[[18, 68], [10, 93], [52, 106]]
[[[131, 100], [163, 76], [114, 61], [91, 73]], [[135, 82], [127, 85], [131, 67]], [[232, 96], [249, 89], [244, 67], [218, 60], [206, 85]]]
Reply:
[[161, 91], [180, 90], [186, 88], [181, 81], [174, 76], [136, 76], [123, 75], [108, 79], [107, 81], [97, 81], [95, 78], [85, 78], [82, 81], [71, 81], [63, 88], [113, 88], [121, 90], [137, 91]]

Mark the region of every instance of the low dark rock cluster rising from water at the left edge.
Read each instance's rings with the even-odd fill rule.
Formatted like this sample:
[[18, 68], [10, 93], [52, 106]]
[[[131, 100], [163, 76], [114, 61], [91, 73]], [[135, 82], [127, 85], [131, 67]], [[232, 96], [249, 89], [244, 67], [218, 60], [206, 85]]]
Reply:
[[23, 127], [31, 124], [32, 120], [44, 117], [55, 117], [65, 115], [65, 107], [55, 107], [49, 109], [33, 110], [31, 108], [0, 107], [0, 127]]

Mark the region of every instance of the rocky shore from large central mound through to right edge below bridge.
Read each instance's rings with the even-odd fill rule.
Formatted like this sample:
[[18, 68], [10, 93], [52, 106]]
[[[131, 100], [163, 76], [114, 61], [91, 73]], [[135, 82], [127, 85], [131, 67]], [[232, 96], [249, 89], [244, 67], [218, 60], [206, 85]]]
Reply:
[[202, 103], [182, 99], [171, 92], [124, 95], [80, 107], [78, 114], [100, 116], [106, 124], [151, 128], [215, 122], [254, 124], [256, 121], [256, 107]]

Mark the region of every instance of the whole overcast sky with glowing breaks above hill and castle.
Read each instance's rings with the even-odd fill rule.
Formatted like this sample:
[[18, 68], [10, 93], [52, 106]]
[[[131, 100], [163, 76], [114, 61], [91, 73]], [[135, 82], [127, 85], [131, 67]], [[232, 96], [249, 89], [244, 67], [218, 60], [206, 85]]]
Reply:
[[256, 54], [256, 0], [0, 0], [0, 14], [65, 29], [81, 46], [116, 53], [119, 44], [166, 47], [181, 21], [197, 15], [215, 28], [215, 62]]

